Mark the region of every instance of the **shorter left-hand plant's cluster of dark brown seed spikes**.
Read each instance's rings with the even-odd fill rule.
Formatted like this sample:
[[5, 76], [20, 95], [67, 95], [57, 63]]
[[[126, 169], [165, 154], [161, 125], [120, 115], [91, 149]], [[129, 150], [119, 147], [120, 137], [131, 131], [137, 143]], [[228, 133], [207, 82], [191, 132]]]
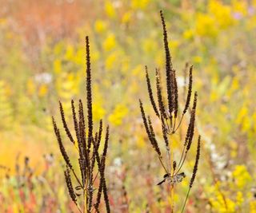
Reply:
[[[62, 143], [62, 137], [59, 129], [53, 117], [54, 132], [58, 140], [58, 145], [62, 153], [63, 159], [66, 162], [66, 171], [64, 172], [66, 185], [70, 193], [70, 197], [78, 207], [78, 210], [83, 213], [94, 211], [99, 212], [99, 204], [101, 202], [102, 193], [104, 196], [106, 212], [110, 212], [110, 203], [107, 195], [106, 179], [105, 179], [105, 162], [106, 152], [109, 141], [109, 127], [106, 128], [105, 143], [102, 155], [100, 156], [98, 148], [102, 141], [102, 120], [100, 121], [98, 132], [94, 134], [93, 125], [93, 113], [92, 113], [92, 93], [91, 93], [91, 73], [90, 73], [90, 45], [89, 38], [86, 37], [86, 101], [87, 101], [87, 131], [84, 116], [84, 109], [82, 101], [79, 101], [78, 116], [74, 107], [74, 101], [71, 101], [71, 108], [74, 120], [74, 132], [76, 139], [72, 136], [70, 129], [66, 123], [66, 116], [62, 107], [62, 103], [59, 102], [59, 108], [62, 116], [63, 128], [66, 131], [66, 135], [74, 144], [74, 147], [78, 151], [78, 164], [81, 172], [81, 178], [79, 178], [77, 172], [70, 162], [70, 158]], [[86, 134], [87, 132], [87, 134]], [[94, 171], [95, 164], [98, 165], [98, 171]], [[95, 169], [96, 170], [96, 169]], [[99, 176], [98, 176], [99, 174]], [[76, 186], [72, 183], [73, 176]], [[99, 179], [98, 193], [94, 198], [95, 179]], [[82, 195], [82, 199], [78, 199]], [[80, 202], [79, 202], [80, 201]]]

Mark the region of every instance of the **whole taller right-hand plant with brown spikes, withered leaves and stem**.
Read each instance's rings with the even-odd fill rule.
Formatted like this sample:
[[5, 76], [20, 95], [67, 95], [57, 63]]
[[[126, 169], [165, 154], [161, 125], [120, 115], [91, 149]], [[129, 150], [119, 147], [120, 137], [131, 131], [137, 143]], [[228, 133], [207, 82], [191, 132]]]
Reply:
[[[150, 144], [154, 148], [154, 151], [158, 155], [158, 160], [162, 166], [162, 168], [165, 170], [166, 174], [163, 176], [163, 180], [158, 183], [158, 185], [162, 185], [163, 183], [168, 183], [170, 185], [170, 209], [171, 212], [174, 212], [174, 186], [176, 183], [182, 182], [182, 179], [186, 177], [185, 172], [182, 171], [182, 166], [186, 160], [187, 153], [190, 151], [190, 147], [194, 138], [194, 124], [195, 124], [195, 115], [196, 115], [196, 107], [197, 107], [197, 100], [198, 100], [198, 94], [197, 92], [194, 93], [194, 101], [192, 108], [190, 109], [190, 99], [192, 96], [192, 83], [193, 83], [193, 66], [191, 65], [189, 68], [189, 65], [186, 64], [186, 69], [189, 68], [189, 82], [188, 85], [184, 86], [184, 90], [186, 92], [185, 100], [182, 101], [178, 98], [178, 84], [177, 84], [177, 78], [176, 78], [176, 70], [174, 69], [174, 66], [172, 64], [172, 58], [170, 56], [170, 49], [168, 44], [168, 37], [167, 37], [167, 31], [166, 31], [166, 23], [165, 19], [163, 17], [162, 11], [160, 11], [160, 16], [162, 20], [162, 30], [163, 30], [163, 43], [166, 53], [166, 91], [162, 89], [162, 81], [161, 81], [161, 74], [160, 70], [155, 70], [155, 78], [156, 78], [156, 97], [157, 101], [155, 101], [152, 85], [150, 82], [150, 76], [148, 73], [147, 67], [146, 69], [146, 85], [147, 90], [150, 97], [150, 103], [152, 105], [152, 108], [154, 109], [155, 116], [161, 121], [162, 126], [162, 140], [166, 147], [166, 160], [163, 160], [163, 155], [160, 147], [158, 146], [158, 140], [159, 138], [156, 137], [156, 133], [154, 131], [154, 127], [152, 124], [152, 119], [150, 116], [146, 116], [146, 112], [143, 108], [142, 101], [139, 100], [139, 105], [142, 113], [142, 120], [144, 127], [146, 129], [146, 134], [150, 140]], [[184, 77], [186, 79], [186, 75]], [[186, 83], [186, 80], [185, 80]], [[187, 87], [187, 89], [186, 89]], [[184, 91], [184, 93], [185, 93]], [[180, 107], [183, 105], [182, 110]], [[175, 132], [178, 131], [182, 124], [182, 120], [184, 119], [187, 112], [190, 112], [190, 121], [186, 130], [186, 137], [183, 142], [182, 151], [180, 152], [181, 155], [178, 158], [178, 160], [174, 159], [174, 149], [172, 148], [171, 143], [171, 136], [174, 135]], [[194, 179], [198, 170], [198, 160], [200, 156], [200, 136], [198, 136], [198, 146], [197, 146], [197, 154], [195, 157], [194, 162], [194, 169], [192, 176], [190, 178], [190, 185], [189, 190], [186, 195], [186, 199], [188, 198], [188, 195], [190, 193], [190, 189], [194, 183]], [[186, 199], [182, 207], [182, 211], [184, 211], [184, 208], [186, 206]]]

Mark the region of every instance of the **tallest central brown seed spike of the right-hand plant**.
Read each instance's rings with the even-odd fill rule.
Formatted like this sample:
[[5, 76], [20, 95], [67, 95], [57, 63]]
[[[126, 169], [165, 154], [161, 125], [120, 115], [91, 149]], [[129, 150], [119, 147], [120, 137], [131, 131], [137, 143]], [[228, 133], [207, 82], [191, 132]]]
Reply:
[[168, 99], [168, 108], [169, 108], [169, 113], [171, 113], [174, 110], [174, 103], [173, 103], [173, 92], [174, 92], [174, 85], [172, 82], [172, 76], [173, 76], [173, 71], [172, 71], [172, 62], [171, 62], [171, 57], [170, 57], [170, 49], [168, 45], [168, 36], [167, 36], [167, 31], [166, 31], [166, 22], [165, 18], [163, 17], [162, 10], [160, 11], [160, 16], [162, 20], [162, 31], [163, 31], [163, 42], [165, 46], [165, 52], [166, 52], [166, 87], [167, 87], [167, 99]]

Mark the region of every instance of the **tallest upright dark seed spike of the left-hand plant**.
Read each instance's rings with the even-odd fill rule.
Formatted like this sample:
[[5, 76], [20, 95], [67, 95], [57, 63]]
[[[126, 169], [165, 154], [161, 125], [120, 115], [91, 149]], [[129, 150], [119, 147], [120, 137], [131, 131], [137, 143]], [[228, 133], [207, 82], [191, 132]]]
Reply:
[[87, 116], [88, 116], [88, 149], [90, 149], [93, 137], [93, 112], [92, 112], [92, 95], [91, 95], [91, 76], [90, 76], [90, 43], [89, 37], [86, 36], [86, 99], [87, 99]]

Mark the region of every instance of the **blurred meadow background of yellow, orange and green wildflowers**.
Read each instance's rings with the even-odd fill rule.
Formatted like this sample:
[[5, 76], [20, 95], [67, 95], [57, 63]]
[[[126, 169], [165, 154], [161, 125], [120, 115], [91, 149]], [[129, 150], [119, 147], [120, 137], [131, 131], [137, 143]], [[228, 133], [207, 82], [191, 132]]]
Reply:
[[[164, 72], [159, 10], [180, 94], [186, 62], [194, 65], [198, 91], [202, 156], [186, 211], [256, 212], [256, 1], [0, 0], [0, 5], [1, 212], [76, 212], [51, 116], [60, 125], [58, 101], [70, 117], [70, 100], [86, 97], [86, 35], [94, 120], [110, 124], [106, 178], [113, 212], [170, 210], [168, 191], [156, 186], [164, 171], [138, 107], [141, 98], [154, 117], [144, 65], [152, 81], [156, 67]], [[177, 158], [186, 125], [187, 119], [172, 140]], [[176, 211], [186, 196], [195, 144], [183, 168], [188, 177], [175, 188]]]

